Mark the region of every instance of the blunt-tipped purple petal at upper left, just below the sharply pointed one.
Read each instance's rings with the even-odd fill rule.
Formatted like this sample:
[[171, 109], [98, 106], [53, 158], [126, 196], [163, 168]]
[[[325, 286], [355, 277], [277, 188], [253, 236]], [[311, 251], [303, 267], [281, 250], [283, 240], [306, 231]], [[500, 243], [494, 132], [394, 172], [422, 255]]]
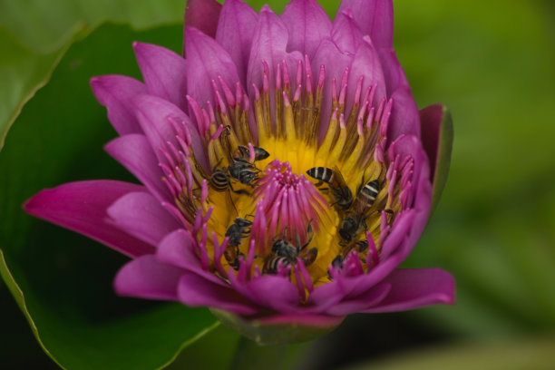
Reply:
[[147, 92], [143, 83], [131, 77], [109, 74], [93, 77], [91, 88], [98, 102], [108, 109], [108, 119], [115, 131], [120, 135], [142, 132], [130, 98]]

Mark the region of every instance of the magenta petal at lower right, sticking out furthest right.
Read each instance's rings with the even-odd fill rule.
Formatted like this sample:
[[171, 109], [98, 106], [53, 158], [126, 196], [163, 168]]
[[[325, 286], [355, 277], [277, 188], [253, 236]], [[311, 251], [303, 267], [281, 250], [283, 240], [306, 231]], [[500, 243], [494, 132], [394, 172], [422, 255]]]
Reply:
[[391, 284], [387, 297], [362, 312], [394, 312], [454, 302], [453, 276], [440, 268], [399, 268], [384, 281]]

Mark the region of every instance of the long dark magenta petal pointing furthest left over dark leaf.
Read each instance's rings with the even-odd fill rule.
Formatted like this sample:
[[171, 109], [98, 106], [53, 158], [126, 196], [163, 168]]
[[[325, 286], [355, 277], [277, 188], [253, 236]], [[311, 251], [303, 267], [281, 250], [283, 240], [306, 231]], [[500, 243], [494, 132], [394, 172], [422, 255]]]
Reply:
[[69, 182], [54, 189], [41, 190], [27, 200], [24, 210], [135, 258], [153, 253], [155, 248], [105, 222], [106, 209], [115, 200], [134, 191], [145, 189], [115, 180]]

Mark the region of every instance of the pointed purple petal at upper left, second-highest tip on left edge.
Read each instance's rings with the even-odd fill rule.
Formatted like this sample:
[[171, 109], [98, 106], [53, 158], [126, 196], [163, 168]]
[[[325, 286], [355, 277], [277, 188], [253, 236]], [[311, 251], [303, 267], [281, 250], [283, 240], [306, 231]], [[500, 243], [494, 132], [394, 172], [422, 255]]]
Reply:
[[[179, 54], [153, 44], [133, 43], [149, 94], [187, 107], [187, 63]], [[186, 112], [186, 111], [185, 111]]]

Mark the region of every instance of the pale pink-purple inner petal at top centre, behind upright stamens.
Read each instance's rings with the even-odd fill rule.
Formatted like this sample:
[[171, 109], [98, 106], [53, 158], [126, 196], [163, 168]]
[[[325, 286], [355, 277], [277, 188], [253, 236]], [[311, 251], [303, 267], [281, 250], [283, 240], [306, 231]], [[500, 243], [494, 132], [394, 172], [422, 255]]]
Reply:
[[[299, 52], [287, 53], [287, 40], [288, 32], [286, 25], [272, 12], [268, 5], [264, 5], [258, 16], [258, 24], [255, 28], [250, 58], [248, 60], [247, 84], [249, 96], [254, 96], [253, 83], [258, 87], [262, 86], [262, 77], [264, 75], [262, 62], [268, 63], [270, 92], [276, 90], [274, 72], [276, 71], [277, 63], [286, 61], [292, 77], [291, 79], [295, 81], [294, 76], [297, 71], [297, 63], [304, 58]], [[270, 101], [273, 107], [273, 93], [270, 93]]]

